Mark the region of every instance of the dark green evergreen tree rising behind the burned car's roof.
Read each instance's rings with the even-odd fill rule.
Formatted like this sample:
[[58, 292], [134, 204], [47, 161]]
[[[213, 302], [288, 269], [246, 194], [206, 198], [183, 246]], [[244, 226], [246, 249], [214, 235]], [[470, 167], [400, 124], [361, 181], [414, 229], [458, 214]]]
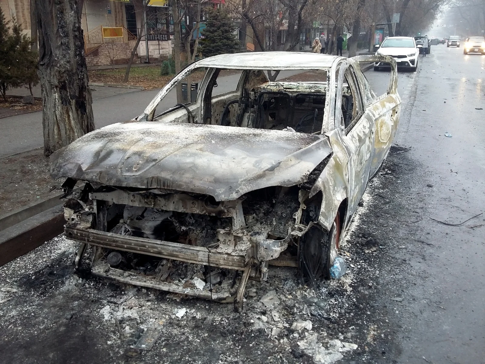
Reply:
[[235, 27], [226, 13], [217, 9], [211, 11], [206, 20], [206, 27], [201, 32], [200, 48], [204, 57], [223, 53], [234, 53], [238, 49], [238, 40], [234, 36]]

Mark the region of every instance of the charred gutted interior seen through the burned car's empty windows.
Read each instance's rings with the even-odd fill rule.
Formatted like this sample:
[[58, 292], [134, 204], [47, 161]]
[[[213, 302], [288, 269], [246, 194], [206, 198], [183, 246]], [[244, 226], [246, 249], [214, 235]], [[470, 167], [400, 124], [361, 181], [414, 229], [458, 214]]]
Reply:
[[[204, 95], [201, 96], [203, 116], [200, 123], [211, 125], [236, 126], [268, 130], [291, 128], [295, 132], [321, 133], [325, 108], [326, 81], [270, 82], [262, 70], [239, 70], [241, 79], [237, 90], [223, 95], [212, 96], [217, 87], [217, 78], [221, 71], [212, 70], [210, 81]], [[209, 73], [210, 71], [208, 71]], [[345, 90], [342, 94], [341, 110], [343, 121], [348, 126], [356, 115], [354, 103], [355, 84], [347, 71]], [[178, 106], [185, 111], [182, 116], [186, 122], [198, 123], [195, 114], [199, 112], [198, 103]], [[154, 117], [165, 120], [163, 116], [173, 109]]]

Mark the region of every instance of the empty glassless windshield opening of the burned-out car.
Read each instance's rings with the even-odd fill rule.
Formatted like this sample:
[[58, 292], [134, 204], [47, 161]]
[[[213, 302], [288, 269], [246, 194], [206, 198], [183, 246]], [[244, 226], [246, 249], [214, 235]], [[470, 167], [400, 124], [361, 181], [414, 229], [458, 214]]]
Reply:
[[[190, 101], [162, 112], [155, 120], [322, 132], [327, 70], [268, 72], [213, 68], [206, 72], [207, 84], [199, 83], [196, 91], [194, 87]], [[188, 76], [181, 83], [190, 79]], [[186, 88], [184, 84], [183, 90]], [[351, 95], [345, 98], [345, 106], [352, 103], [347, 100]]]

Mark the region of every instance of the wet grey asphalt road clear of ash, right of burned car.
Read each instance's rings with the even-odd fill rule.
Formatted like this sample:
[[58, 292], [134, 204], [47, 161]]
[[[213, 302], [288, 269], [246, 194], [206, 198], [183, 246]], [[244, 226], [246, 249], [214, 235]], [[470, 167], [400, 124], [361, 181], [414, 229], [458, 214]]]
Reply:
[[460, 226], [430, 217], [459, 224], [485, 213], [485, 56], [442, 45], [432, 52], [420, 60], [395, 139], [419, 165], [408, 193], [419, 194], [424, 214], [393, 234], [434, 244], [409, 260], [416, 275], [404, 292], [413, 299], [402, 308], [399, 362], [484, 363], [485, 216]]

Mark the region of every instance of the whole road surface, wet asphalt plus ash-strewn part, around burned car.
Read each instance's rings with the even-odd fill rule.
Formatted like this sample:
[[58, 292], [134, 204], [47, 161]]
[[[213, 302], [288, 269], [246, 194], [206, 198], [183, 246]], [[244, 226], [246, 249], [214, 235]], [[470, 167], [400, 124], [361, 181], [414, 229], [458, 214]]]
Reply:
[[[311, 288], [272, 267], [234, 314], [73, 275], [75, 247], [57, 238], [0, 267], [0, 286], [18, 289], [0, 291], [0, 363], [312, 363], [297, 344], [307, 333], [285, 329], [296, 320], [311, 320], [324, 345], [358, 346], [338, 363], [484, 363], [485, 56], [462, 51], [434, 46], [418, 72], [399, 73], [398, 133], [342, 241], [341, 280]], [[367, 77], [386, 89], [388, 72]], [[259, 299], [272, 289], [281, 304], [270, 311]], [[156, 345], [129, 352], [158, 320]]]

